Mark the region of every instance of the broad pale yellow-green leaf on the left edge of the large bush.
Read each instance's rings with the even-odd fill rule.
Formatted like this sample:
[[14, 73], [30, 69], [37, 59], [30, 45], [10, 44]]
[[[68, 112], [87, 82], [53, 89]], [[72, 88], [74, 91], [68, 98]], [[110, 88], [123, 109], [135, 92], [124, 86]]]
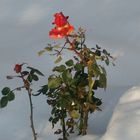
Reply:
[[61, 78], [60, 77], [49, 77], [48, 79], [48, 88], [57, 88], [61, 85]]

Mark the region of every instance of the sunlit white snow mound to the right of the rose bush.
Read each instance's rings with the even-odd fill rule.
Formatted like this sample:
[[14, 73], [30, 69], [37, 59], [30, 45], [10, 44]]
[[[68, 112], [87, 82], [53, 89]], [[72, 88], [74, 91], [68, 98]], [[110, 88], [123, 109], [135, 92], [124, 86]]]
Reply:
[[140, 138], [140, 87], [133, 87], [120, 98], [106, 133], [100, 140]]

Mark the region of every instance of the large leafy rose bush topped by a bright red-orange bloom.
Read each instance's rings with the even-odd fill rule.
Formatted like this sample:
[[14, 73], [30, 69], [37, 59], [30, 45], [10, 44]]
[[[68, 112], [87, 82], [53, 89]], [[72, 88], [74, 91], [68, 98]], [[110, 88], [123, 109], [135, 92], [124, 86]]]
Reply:
[[64, 43], [48, 44], [39, 52], [42, 55], [48, 51], [55, 55], [55, 63], [59, 63], [65, 50], [73, 53], [73, 58], [53, 68], [53, 74], [48, 77], [48, 84], [38, 90], [39, 94], [47, 96], [47, 103], [52, 107], [52, 127], [60, 123], [62, 128], [55, 134], [63, 134], [62, 140], [67, 140], [70, 133], [78, 129], [79, 135], [85, 135], [88, 127], [89, 113], [101, 111], [102, 99], [95, 95], [98, 88], [106, 89], [107, 73], [102, 63], [113, 63], [113, 57], [98, 45], [87, 47], [85, 30], [79, 28], [76, 32], [68, 22], [68, 17], [62, 12], [54, 15], [55, 26], [49, 36], [52, 39], [64, 39]]

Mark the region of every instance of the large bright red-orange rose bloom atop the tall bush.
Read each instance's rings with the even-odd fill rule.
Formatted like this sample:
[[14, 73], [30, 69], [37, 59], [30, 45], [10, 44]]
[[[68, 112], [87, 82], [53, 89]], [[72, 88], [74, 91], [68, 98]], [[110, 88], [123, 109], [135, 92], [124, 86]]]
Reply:
[[49, 32], [49, 36], [53, 39], [63, 38], [74, 31], [74, 27], [68, 22], [68, 16], [64, 16], [62, 12], [54, 15], [55, 19], [52, 24], [55, 27]]

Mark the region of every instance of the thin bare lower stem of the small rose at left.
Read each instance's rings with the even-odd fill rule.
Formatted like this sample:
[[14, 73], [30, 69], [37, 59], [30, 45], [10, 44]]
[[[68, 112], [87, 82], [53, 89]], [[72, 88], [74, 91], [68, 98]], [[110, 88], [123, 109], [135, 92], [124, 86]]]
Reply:
[[37, 140], [37, 133], [35, 132], [35, 127], [34, 127], [34, 119], [33, 119], [33, 103], [32, 103], [32, 97], [31, 97], [31, 91], [30, 89], [28, 90], [28, 97], [29, 97], [29, 102], [30, 102], [30, 123], [31, 123], [31, 129], [32, 129], [32, 134], [34, 140]]

